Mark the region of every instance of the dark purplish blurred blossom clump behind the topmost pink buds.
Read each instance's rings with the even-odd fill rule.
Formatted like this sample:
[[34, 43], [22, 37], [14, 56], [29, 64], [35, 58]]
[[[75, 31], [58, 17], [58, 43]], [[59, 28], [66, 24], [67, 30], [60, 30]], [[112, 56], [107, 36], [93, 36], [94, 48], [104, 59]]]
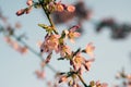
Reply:
[[[82, 25], [83, 21], [88, 21], [92, 15], [92, 10], [85, 7], [84, 1], [78, 1], [72, 5], [67, 5], [67, 10], [52, 13], [55, 24], [69, 23], [76, 18], [76, 24]], [[81, 33], [83, 30], [81, 28], [78, 32]]]

